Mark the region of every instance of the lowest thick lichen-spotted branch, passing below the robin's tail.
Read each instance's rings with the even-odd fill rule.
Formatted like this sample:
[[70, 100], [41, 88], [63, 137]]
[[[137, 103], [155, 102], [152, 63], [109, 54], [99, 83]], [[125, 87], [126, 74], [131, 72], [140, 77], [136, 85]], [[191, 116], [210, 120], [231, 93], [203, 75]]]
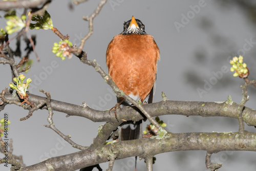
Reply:
[[[172, 135], [172, 136], [171, 136]], [[203, 150], [208, 153], [221, 151], [256, 151], [256, 133], [180, 133], [165, 134], [162, 138], [120, 141], [114, 144], [90, 147], [77, 153], [54, 157], [21, 170], [75, 170], [108, 162], [109, 156], [119, 153], [116, 160], [132, 156], [146, 157], [184, 150]], [[61, 161], [61, 162], [59, 162]]]

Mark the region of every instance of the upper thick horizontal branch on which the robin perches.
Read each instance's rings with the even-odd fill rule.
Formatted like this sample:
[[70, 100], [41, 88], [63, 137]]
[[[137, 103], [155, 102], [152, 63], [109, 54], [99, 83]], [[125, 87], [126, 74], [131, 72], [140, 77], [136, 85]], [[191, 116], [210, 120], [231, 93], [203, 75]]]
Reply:
[[[5, 94], [5, 98], [8, 100], [15, 100], [19, 102], [19, 98], [13, 95]], [[39, 101], [46, 100], [45, 97], [29, 94], [29, 100], [35, 104]], [[89, 108], [89, 106], [80, 106], [76, 104], [70, 104], [57, 100], [51, 100], [52, 109], [54, 111], [66, 113], [71, 116], [81, 116], [92, 120], [93, 122], [106, 122], [116, 123], [116, 119], [113, 115], [109, 115], [109, 111], [97, 111]], [[200, 102], [200, 101], [172, 101], [165, 100], [151, 104], [143, 105], [145, 110], [150, 111], [152, 116], [161, 115], [184, 115], [184, 116], [221, 116], [236, 118], [238, 104], [233, 101], [223, 102]], [[243, 120], [249, 126], [256, 126], [256, 111], [250, 108], [244, 108]], [[117, 113], [119, 124], [122, 123], [121, 119], [139, 121], [143, 119], [139, 112], [133, 108], [122, 108]]]

